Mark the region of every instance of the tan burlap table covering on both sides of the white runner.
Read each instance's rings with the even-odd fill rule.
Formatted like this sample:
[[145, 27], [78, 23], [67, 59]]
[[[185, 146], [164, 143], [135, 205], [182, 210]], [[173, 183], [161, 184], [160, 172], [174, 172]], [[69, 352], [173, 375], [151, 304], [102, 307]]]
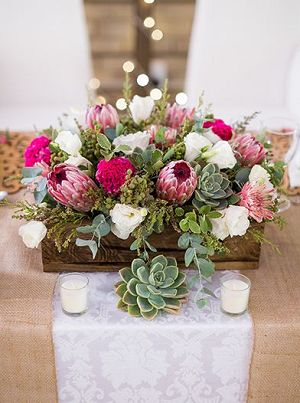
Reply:
[[[300, 207], [283, 215], [284, 231], [266, 229], [282, 256], [264, 246], [259, 270], [243, 272], [255, 331], [249, 403], [300, 401]], [[23, 245], [19, 225], [0, 209], [0, 402], [55, 403], [56, 275], [42, 272], [40, 251]]]

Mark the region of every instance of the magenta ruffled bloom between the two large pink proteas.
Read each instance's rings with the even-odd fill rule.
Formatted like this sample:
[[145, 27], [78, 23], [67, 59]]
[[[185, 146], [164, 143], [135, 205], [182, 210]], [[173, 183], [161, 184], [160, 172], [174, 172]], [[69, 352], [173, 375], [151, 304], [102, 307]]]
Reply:
[[132, 175], [135, 173], [135, 167], [128, 158], [116, 157], [109, 161], [101, 160], [97, 166], [96, 179], [106, 193], [118, 194], [129, 170]]

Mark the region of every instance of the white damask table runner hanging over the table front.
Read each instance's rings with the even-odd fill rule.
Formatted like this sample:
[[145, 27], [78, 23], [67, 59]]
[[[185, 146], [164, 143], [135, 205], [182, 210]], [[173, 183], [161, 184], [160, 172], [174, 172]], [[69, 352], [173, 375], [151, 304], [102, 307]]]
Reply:
[[[58, 395], [68, 403], [238, 403], [247, 399], [253, 329], [248, 314], [230, 317], [211, 298], [198, 309], [191, 293], [181, 315], [154, 321], [116, 309], [118, 274], [92, 273], [89, 310], [61, 311], [54, 297]], [[222, 273], [214, 277], [217, 290]], [[218, 293], [218, 290], [217, 290]]]

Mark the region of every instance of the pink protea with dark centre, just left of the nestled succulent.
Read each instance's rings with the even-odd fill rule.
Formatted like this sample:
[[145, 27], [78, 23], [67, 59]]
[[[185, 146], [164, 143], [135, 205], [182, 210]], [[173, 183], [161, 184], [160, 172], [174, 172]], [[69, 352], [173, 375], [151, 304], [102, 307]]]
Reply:
[[160, 199], [184, 204], [197, 186], [197, 175], [191, 165], [184, 161], [172, 161], [159, 173], [156, 191]]

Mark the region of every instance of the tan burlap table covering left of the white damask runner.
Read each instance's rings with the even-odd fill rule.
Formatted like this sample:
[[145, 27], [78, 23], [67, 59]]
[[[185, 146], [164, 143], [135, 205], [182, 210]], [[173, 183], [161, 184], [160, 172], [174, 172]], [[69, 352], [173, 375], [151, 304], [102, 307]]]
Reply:
[[0, 208], [0, 402], [55, 403], [52, 294], [56, 274], [42, 271], [20, 222]]

